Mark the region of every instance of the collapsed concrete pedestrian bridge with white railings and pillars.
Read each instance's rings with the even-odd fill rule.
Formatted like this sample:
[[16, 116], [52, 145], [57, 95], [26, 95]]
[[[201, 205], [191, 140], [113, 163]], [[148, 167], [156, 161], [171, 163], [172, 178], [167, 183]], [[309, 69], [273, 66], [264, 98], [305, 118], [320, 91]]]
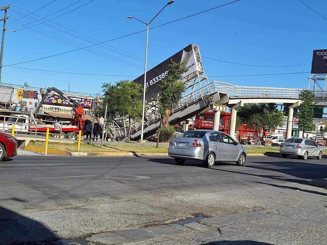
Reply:
[[[303, 89], [293, 88], [274, 88], [274, 87], [253, 87], [253, 86], [236, 86], [230, 83], [207, 80], [206, 83], [199, 83], [198, 87], [194, 86], [192, 90], [185, 92], [174, 109], [169, 120], [172, 124], [180, 123], [195, 116], [198, 113], [213, 109], [213, 105], [227, 105], [232, 109], [231, 113], [231, 136], [234, 136], [236, 123], [236, 109], [247, 103], [284, 103], [286, 106], [293, 108], [299, 106], [299, 94]], [[326, 90], [310, 90], [314, 95], [315, 105], [326, 105], [327, 100], [324, 101], [327, 95]], [[159, 127], [159, 113], [155, 109], [147, 112], [145, 116], [144, 137], [155, 134]], [[233, 122], [235, 119], [235, 123]], [[219, 122], [219, 120], [217, 120]], [[122, 123], [121, 123], [122, 124]], [[114, 137], [122, 139], [128, 134], [128, 125], [119, 127], [119, 124], [112, 124], [112, 132]], [[234, 126], [234, 127], [233, 127]], [[141, 122], [132, 122], [131, 138], [137, 139], [141, 134]]]

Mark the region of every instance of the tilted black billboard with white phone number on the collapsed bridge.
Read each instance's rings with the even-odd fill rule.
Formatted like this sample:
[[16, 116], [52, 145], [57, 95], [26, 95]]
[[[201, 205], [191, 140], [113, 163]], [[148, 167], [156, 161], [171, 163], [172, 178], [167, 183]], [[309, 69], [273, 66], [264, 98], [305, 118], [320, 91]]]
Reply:
[[[146, 73], [146, 98], [156, 98], [159, 93], [158, 85], [161, 84], [161, 80], [168, 74], [168, 65], [173, 60], [176, 63], [185, 61], [185, 66], [188, 68], [188, 72], [183, 74], [183, 77], [193, 73], [197, 70], [197, 63], [195, 60], [192, 44], [183, 48], [178, 53], [169, 57], [159, 65], [153, 67]], [[144, 86], [144, 74], [134, 80]]]

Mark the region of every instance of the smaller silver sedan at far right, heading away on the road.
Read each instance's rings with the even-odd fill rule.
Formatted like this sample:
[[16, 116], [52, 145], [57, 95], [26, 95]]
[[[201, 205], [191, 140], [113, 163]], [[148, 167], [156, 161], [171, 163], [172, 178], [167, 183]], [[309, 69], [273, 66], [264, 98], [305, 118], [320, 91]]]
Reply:
[[295, 155], [304, 160], [306, 160], [308, 156], [315, 156], [319, 160], [322, 158], [322, 149], [319, 144], [307, 138], [286, 139], [281, 144], [279, 151], [284, 158], [289, 155]]

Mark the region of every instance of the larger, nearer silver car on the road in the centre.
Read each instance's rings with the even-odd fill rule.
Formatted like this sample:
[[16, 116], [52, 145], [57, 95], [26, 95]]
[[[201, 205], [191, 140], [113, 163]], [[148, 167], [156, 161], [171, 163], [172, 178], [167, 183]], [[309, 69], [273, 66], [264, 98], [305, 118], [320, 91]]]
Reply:
[[228, 134], [214, 130], [190, 130], [180, 137], [172, 138], [168, 155], [175, 158], [177, 164], [185, 160], [200, 160], [211, 168], [215, 161], [235, 161], [244, 166], [247, 152], [244, 146]]

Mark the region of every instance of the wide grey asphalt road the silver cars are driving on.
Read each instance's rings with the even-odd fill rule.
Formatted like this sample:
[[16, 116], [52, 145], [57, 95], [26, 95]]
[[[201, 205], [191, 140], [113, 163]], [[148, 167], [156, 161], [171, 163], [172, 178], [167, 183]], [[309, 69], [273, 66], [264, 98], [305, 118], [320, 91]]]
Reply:
[[207, 169], [163, 157], [31, 155], [0, 171], [0, 241], [9, 243], [327, 202], [327, 190], [308, 185], [327, 177], [327, 158], [249, 157], [245, 167]]

